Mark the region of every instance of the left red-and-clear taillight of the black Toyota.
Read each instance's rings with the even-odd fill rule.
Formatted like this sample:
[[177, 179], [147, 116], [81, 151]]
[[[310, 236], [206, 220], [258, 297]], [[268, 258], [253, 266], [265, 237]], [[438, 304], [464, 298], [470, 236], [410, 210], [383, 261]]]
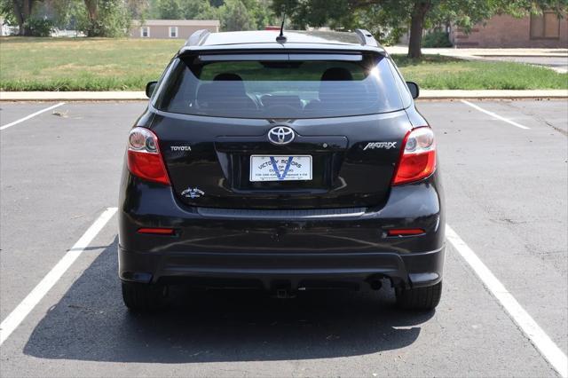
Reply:
[[170, 178], [163, 165], [158, 137], [141, 127], [134, 128], [128, 136], [128, 169], [134, 176], [148, 181], [170, 185]]

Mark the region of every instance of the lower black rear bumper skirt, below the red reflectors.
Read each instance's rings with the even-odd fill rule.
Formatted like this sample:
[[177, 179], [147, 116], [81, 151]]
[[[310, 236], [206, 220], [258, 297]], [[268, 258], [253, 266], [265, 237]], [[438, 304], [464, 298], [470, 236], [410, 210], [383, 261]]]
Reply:
[[149, 254], [119, 248], [120, 277], [135, 282], [191, 282], [202, 286], [343, 287], [390, 279], [395, 286], [423, 287], [442, 280], [445, 247], [398, 253], [199, 253]]

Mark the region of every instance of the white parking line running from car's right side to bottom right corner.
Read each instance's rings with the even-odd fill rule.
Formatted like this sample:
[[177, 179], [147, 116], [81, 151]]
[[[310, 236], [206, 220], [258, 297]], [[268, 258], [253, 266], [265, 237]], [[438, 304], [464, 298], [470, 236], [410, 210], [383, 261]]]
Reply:
[[461, 257], [476, 272], [477, 277], [489, 289], [491, 294], [497, 298], [501, 306], [509, 313], [511, 319], [517, 323], [517, 326], [540, 351], [540, 354], [548, 360], [560, 376], [567, 378], [568, 358], [566, 358], [564, 351], [558, 348], [556, 343], [540, 328], [533, 317], [525, 311], [521, 304], [517, 302], [517, 299], [509, 293], [509, 290], [493, 275], [493, 272], [477, 257], [476, 253], [469, 248], [465, 241], [454, 232], [449, 224], [446, 224], [446, 239], [452, 243]]

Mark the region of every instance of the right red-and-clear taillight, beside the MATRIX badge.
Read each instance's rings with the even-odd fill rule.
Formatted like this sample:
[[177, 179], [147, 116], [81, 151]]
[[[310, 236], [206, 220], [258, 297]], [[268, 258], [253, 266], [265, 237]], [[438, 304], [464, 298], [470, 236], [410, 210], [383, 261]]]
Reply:
[[411, 183], [429, 177], [436, 169], [436, 142], [430, 127], [406, 134], [392, 185]]

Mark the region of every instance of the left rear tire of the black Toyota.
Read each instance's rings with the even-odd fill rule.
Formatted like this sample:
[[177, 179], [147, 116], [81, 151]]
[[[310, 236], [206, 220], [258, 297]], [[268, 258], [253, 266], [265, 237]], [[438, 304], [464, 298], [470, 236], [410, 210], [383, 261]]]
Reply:
[[130, 311], [146, 312], [160, 307], [168, 293], [163, 285], [122, 281], [122, 301]]

